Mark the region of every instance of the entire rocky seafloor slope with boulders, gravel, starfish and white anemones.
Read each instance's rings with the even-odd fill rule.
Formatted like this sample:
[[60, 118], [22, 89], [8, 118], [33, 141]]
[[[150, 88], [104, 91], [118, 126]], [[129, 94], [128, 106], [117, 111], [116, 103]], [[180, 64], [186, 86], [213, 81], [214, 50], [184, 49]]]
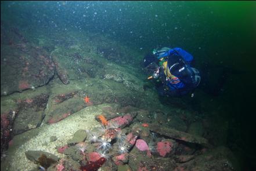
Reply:
[[161, 103], [138, 59], [100, 35], [1, 26], [1, 170], [236, 170], [221, 124]]

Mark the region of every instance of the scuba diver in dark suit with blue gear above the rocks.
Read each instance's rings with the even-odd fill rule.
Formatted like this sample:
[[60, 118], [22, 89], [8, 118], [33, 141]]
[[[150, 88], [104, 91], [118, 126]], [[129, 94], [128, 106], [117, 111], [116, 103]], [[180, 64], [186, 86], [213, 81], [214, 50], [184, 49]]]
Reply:
[[181, 48], [154, 49], [147, 54], [143, 64], [146, 70], [153, 72], [148, 79], [155, 79], [160, 96], [180, 97], [193, 90], [200, 83], [200, 74], [191, 67], [193, 56]]

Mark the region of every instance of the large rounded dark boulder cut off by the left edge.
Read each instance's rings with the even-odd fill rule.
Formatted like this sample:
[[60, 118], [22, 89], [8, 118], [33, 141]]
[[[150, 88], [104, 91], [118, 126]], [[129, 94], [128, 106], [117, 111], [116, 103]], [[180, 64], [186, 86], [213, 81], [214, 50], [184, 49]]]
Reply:
[[45, 85], [54, 74], [46, 50], [28, 42], [18, 28], [1, 23], [1, 96]]

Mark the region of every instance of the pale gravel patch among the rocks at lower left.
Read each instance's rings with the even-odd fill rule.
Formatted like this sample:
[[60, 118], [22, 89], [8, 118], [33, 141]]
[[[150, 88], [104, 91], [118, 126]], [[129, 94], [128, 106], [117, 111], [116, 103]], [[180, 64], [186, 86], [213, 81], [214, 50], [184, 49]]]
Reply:
[[[70, 140], [79, 129], [91, 130], [100, 126], [100, 123], [95, 120], [95, 115], [99, 115], [104, 106], [106, 105], [86, 107], [60, 122], [51, 125], [44, 124], [37, 129], [26, 132], [26, 134], [37, 132], [37, 135], [25, 141], [25, 143], [17, 145], [16, 148], [8, 150], [8, 157], [2, 162], [1, 170], [26, 171], [34, 169], [37, 165], [29, 161], [25, 155], [25, 152], [28, 150], [42, 150], [63, 158], [64, 154], [59, 154], [56, 147], [65, 145], [67, 140]], [[22, 139], [22, 136], [24, 138], [26, 134], [19, 134], [17, 136], [21, 136], [20, 139]], [[51, 142], [51, 136], [56, 136], [57, 140]]]

